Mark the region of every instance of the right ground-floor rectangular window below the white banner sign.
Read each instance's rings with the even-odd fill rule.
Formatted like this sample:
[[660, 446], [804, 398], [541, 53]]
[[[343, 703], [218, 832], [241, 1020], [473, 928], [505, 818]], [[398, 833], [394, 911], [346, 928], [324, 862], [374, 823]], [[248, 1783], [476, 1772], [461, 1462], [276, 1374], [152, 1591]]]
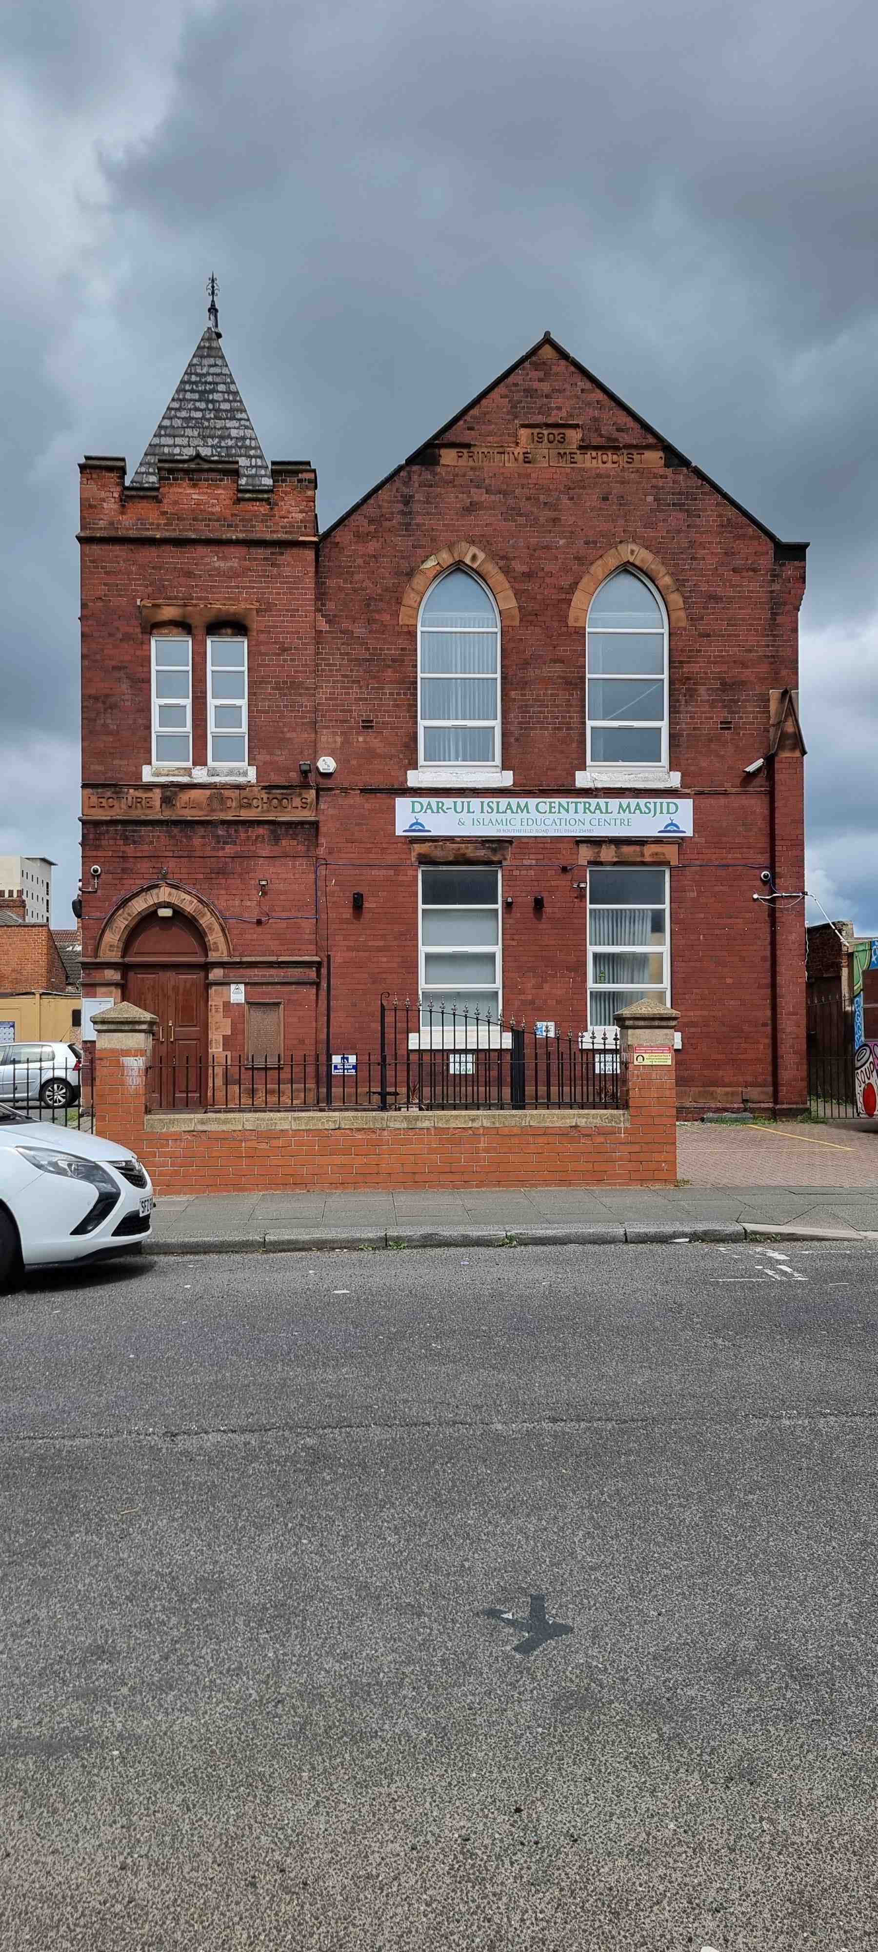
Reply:
[[642, 997], [671, 1001], [667, 869], [589, 867], [589, 1029]]

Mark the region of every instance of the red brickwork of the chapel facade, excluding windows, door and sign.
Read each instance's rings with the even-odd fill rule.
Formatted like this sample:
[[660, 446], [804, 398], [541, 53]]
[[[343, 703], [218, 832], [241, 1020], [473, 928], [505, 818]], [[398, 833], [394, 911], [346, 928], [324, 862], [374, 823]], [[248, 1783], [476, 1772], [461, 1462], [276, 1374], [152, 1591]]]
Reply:
[[[523, 426], [576, 426], [599, 459], [570, 472], [498, 465]], [[451, 562], [484, 578], [501, 617], [509, 791], [572, 794], [587, 603], [634, 560], [667, 605], [669, 765], [695, 802], [693, 837], [658, 855], [671, 861], [681, 1107], [802, 1107], [802, 904], [753, 902], [763, 869], [802, 888], [800, 742], [786, 726], [763, 769], [745, 767], [769, 755], [773, 699], [798, 683], [804, 545], [778, 543], [550, 340], [322, 539], [308, 463], [273, 463], [254, 488], [226, 453], [185, 459], [180, 431], [174, 443], [164, 459], [150, 443], [148, 486], [127, 486], [121, 459], [82, 467], [84, 994], [125, 996], [140, 898], [178, 904], [205, 935], [211, 1050], [246, 1046], [230, 984], [283, 1003], [285, 1052], [322, 1046], [332, 956], [332, 1046], [375, 1052], [380, 992], [418, 996], [419, 849], [394, 837], [394, 796], [418, 765], [423, 591]], [[455, 447], [472, 465], [445, 465]], [[656, 465], [638, 465], [644, 451]], [[207, 767], [207, 632], [236, 625], [256, 787], [316, 789], [312, 818], [224, 818], [222, 793], [176, 818], [180, 781], [150, 789], [140, 818], [162, 623], [191, 632], [193, 767]], [[336, 759], [328, 779], [322, 753]], [[101, 796], [109, 818], [96, 818]], [[656, 859], [613, 845], [603, 859]], [[462, 851], [501, 859], [503, 1013], [585, 1025], [593, 847], [574, 835]]]

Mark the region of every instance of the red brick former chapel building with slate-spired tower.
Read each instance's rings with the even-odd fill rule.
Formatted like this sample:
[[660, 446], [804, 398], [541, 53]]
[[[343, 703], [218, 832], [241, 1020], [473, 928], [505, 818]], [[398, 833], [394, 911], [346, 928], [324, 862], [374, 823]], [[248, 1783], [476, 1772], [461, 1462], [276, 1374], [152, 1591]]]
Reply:
[[685, 1109], [802, 1107], [806, 545], [548, 334], [314, 498], [215, 312], [133, 478], [82, 463], [84, 996], [193, 1062], [652, 996]]

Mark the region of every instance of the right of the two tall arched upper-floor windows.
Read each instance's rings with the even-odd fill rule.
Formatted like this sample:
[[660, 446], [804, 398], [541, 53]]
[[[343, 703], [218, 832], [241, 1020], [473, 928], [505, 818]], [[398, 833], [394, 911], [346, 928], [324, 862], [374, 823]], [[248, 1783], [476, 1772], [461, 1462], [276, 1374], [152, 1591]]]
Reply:
[[617, 570], [591, 597], [587, 763], [667, 767], [667, 615], [636, 570]]

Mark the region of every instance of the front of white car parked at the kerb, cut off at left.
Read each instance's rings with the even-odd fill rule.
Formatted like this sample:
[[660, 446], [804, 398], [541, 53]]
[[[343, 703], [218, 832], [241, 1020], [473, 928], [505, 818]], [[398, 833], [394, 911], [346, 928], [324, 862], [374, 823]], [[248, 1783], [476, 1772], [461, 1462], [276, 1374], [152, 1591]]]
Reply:
[[133, 1253], [152, 1240], [152, 1181], [109, 1138], [0, 1105], [0, 1288], [21, 1267]]

